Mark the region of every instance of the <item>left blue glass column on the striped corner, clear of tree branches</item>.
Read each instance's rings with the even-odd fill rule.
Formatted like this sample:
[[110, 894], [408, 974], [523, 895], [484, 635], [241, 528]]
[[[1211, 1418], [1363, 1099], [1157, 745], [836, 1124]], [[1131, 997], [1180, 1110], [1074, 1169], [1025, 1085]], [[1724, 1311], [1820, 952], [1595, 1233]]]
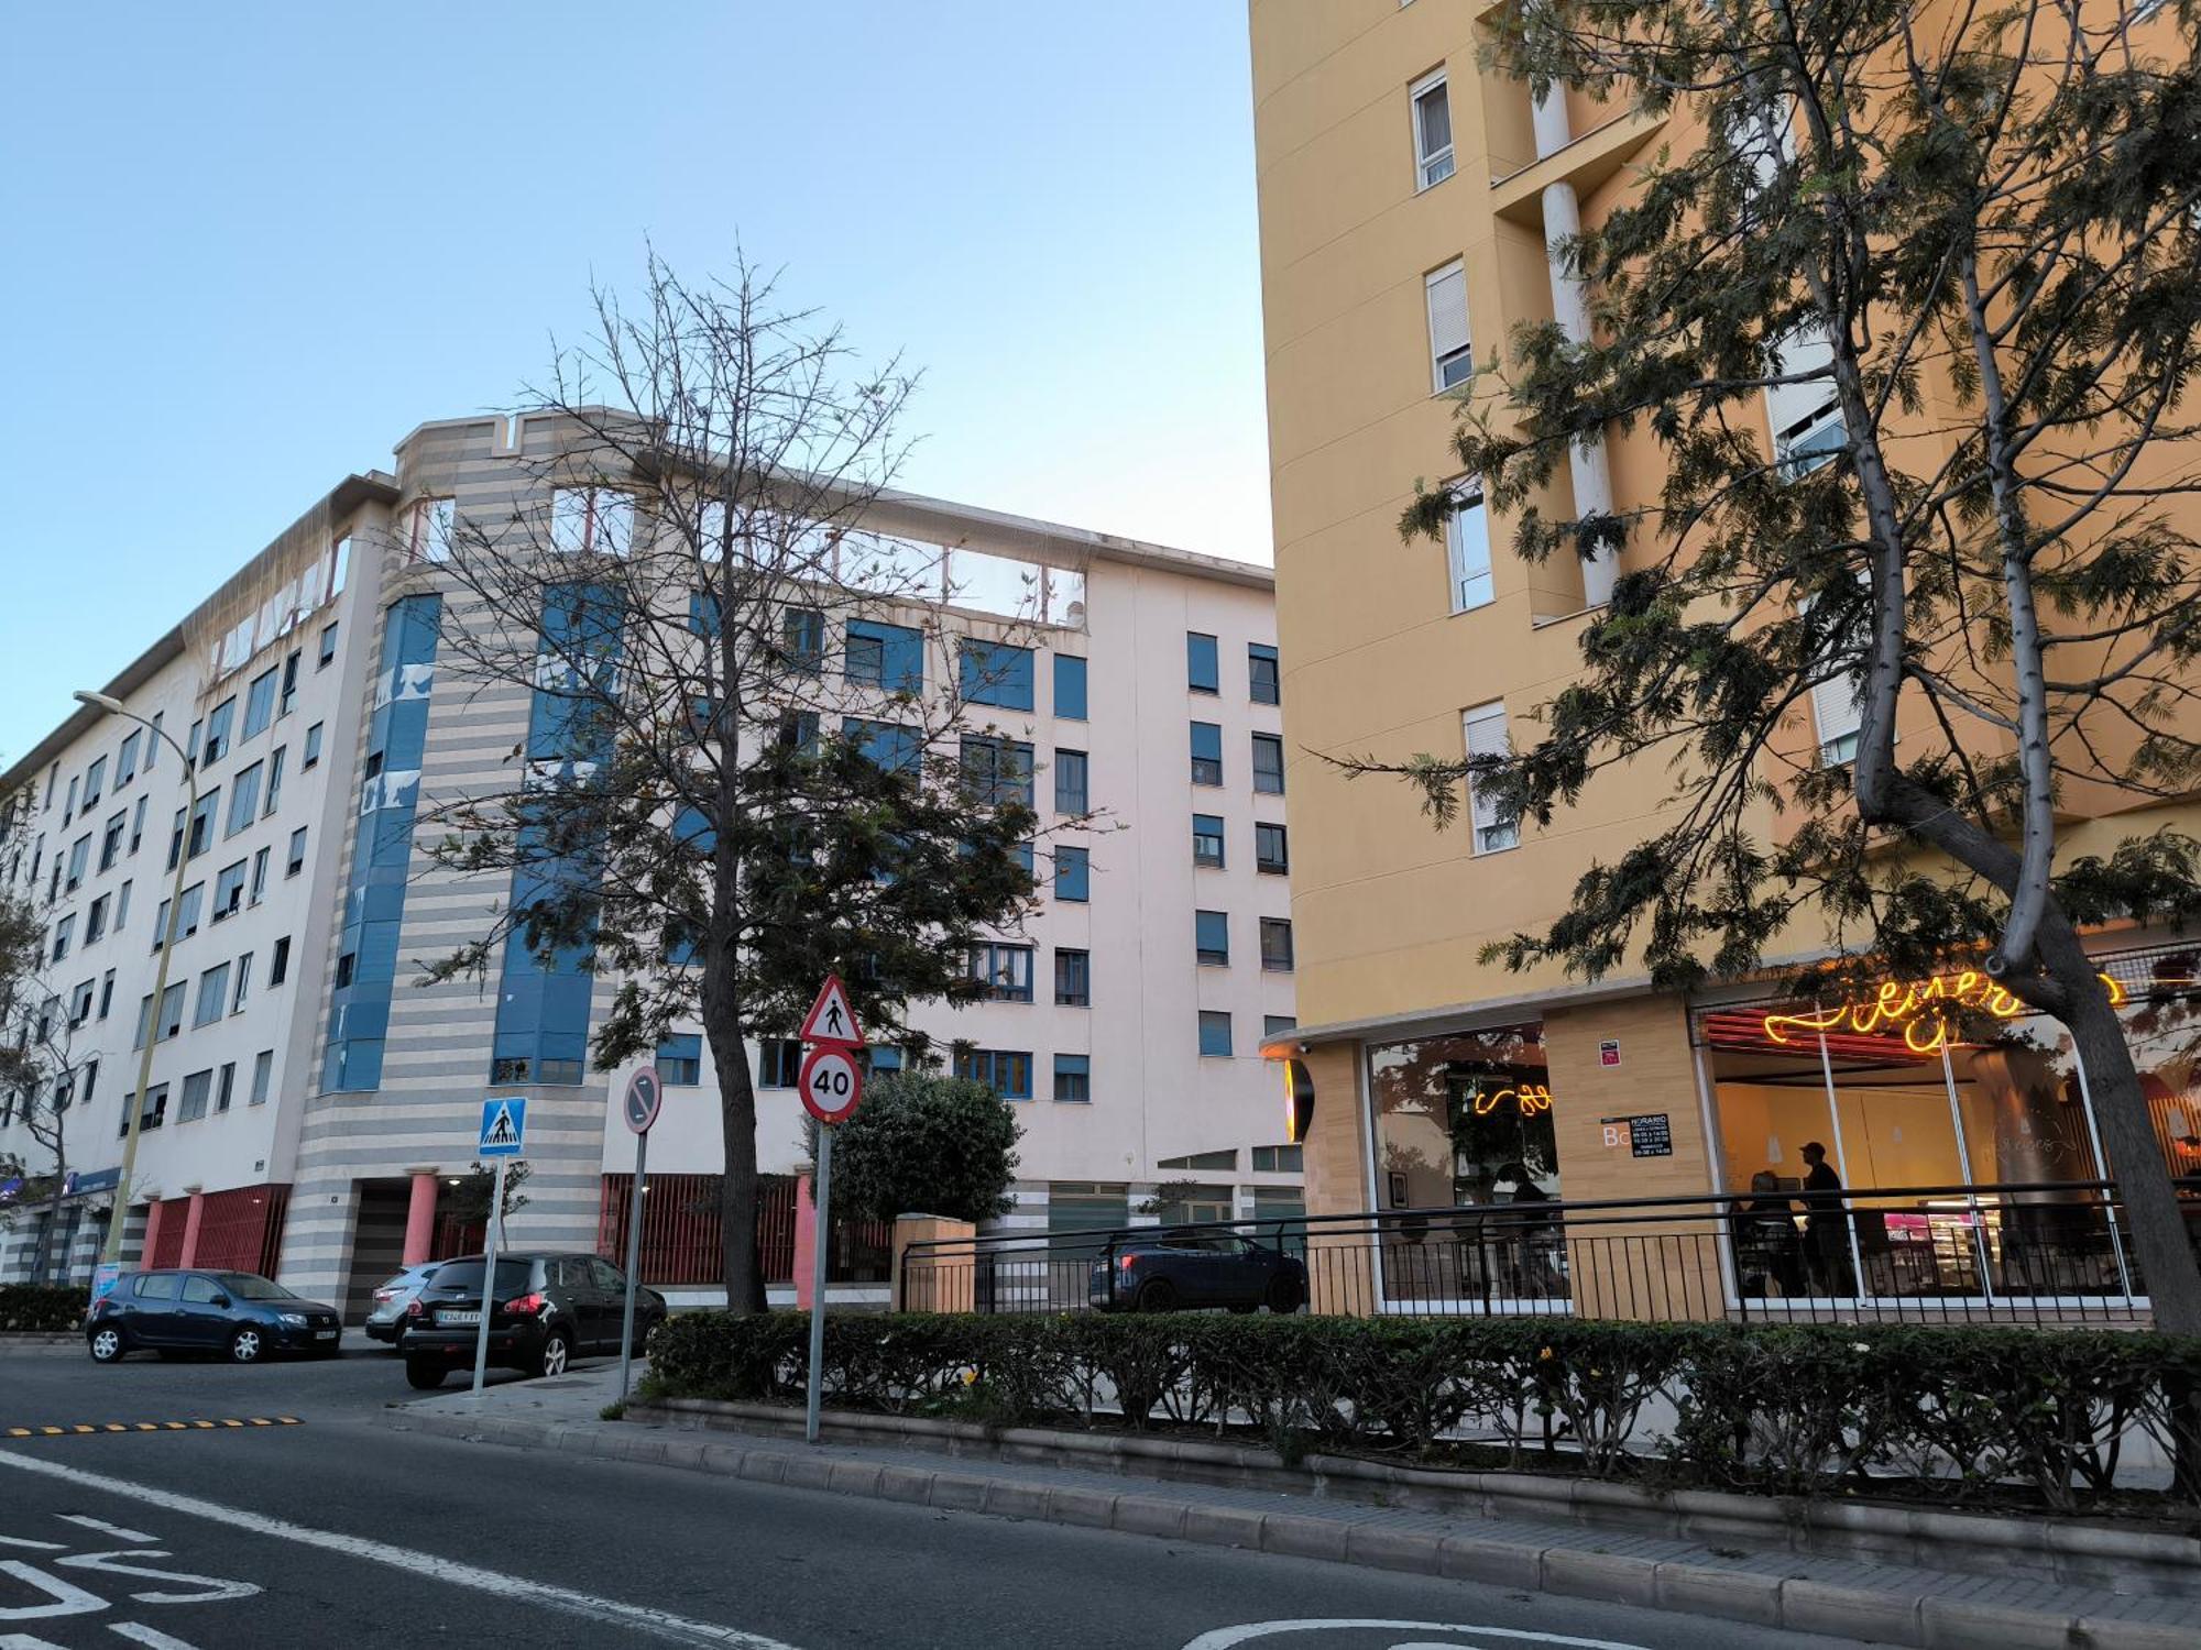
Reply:
[[440, 596], [405, 596], [383, 620], [383, 671], [368, 722], [365, 777], [352, 878], [343, 891], [337, 939], [337, 990], [328, 1010], [328, 1058], [321, 1091], [376, 1089], [390, 1034], [390, 988], [398, 968], [398, 924], [405, 917], [405, 871], [412, 858], [414, 810], [420, 803], [420, 755], [427, 706], [436, 689]]

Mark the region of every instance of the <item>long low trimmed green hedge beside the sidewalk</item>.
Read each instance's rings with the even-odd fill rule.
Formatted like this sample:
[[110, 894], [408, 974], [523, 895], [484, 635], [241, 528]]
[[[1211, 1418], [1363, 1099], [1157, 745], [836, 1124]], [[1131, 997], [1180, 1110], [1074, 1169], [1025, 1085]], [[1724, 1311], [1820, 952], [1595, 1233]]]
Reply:
[[[654, 1390], [799, 1399], [808, 1333], [801, 1313], [682, 1313], [651, 1340]], [[2058, 1511], [2113, 1489], [2128, 1428], [2175, 1461], [2201, 1456], [2201, 1342], [2148, 1333], [836, 1316], [825, 1390], [843, 1408], [997, 1426], [1250, 1428], [1288, 1459], [1459, 1459], [1466, 1430], [1505, 1465], [1803, 1496], [1928, 1481], [1952, 1503]], [[1671, 1428], [1649, 1454], [1646, 1412]], [[2201, 1505], [2190, 1474], [2177, 1494]]]

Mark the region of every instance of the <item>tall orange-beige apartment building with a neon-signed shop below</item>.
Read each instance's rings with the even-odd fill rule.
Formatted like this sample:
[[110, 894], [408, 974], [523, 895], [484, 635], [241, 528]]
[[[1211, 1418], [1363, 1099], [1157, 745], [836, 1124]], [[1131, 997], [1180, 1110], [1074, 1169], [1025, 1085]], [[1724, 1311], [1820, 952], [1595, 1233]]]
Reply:
[[[1547, 926], [1591, 860], [1657, 829], [1668, 777], [1605, 774], [1550, 829], [1470, 805], [1439, 834], [1404, 783], [1347, 781], [1325, 761], [1457, 759], [1532, 737], [1530, 717], [1569, 680], [1585, 616], [1611, 585], [1609, 572], [1585, 587], [1563, 557], [1530, 568], [1505, 550], [1508, 524], [1446, 473], [1448, 389], [1516, 323], [1587, 323], [1587, 295], [1547, 242], [1598, 222], [1631, 187], [1631, 163], [1686, 132], [1563, 90], [1538, 106], [1525, 84], [1479, 66], [1488, 13], [1486, 0], [1250, 4], [1299, 854], [1301, 1023], [1270, 1054], [1296, 1058], [1312, 1089], [1310, 1210], [1505, 1203], [1523, 1181], [1569, 1203], [1701, 1197], [1748, 1190], [1763, 1170], [1794, 1188], [1803, 1146], [1820, 1142], [1853, 1188], [1866, 1291], [1875, 1278], [1893, 1289], [1908, 1254], [1959, 1250], [1974, 1272], [1932, 1287], [1992, 1291], [2023, 1225], [2010, 1210], [1869, 1190], [2098, 1177], [2084, 1074], [2060, 1025], [2003, 1005], [2001, 1038], [1939, 1038], [1924, 992], [1976, 1001], [1983, 983], [1961, 970], [1939, 988], [1893, 981], [1886, 999], [1833, 1005], [1770, 1001], [1770, 983], [1684, 999], [1627, 970], [1594, 986], [1556, 966], [1508, 972], [1481, 948]], [[1765, 436], [1807, 455], [1840, 438], [1840, 414], [1772, 396]], [[1442, 546], [1400, 539], [1417, 482], [1459, 488]], [[1657, 484], [1649, 433], [1609, 433], [1556, 480], [1552, 506], [1627, 510]], [[1847, 759], [1858, 706], [1822, 691], [1811, 711], [1798, 748]], [[2071, 854], [2197, 812], [2120, 794], [2071, 801]], [[2126, 990], [2164, 1153], [2197, 1173], [2201, 1087], [2186, 1038], [2157, 1030], [2166, 1001], [2192, 997], [2197, 946], [2146, 931], [2095, 944]], [[1822, 935], [1800, 935], [1783, 961], [1827, 950]], [[2122, 1272], [2067, 1283], [2120, 1278], [2131, 1283]], [[1457, 1283], [1483, 1300], [1563, 1307], [1569, 1294], [1563, 1265]], [[1580, 1276], [1574, 1285], [1580, 1307]], [[1737, 1280], [1690, 1287], [1717, 1311]], [[1393, 1280], [1389, 1305], [1398, 1298]]]

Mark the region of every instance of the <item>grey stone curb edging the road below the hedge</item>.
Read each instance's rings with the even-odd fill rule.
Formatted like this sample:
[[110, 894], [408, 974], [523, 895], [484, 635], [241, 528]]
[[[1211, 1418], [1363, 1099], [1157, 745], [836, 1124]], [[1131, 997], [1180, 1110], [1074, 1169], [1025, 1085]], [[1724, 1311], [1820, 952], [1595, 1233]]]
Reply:
[[1723, 1571], [1708, 1564], [1629, 1558], [1580, 1547], [1435, 1536], [1428, 1531], [1354, 1525], [1288, 1511], [1213, 1507], [1184, 1496], [1048, 1487], [993, 1478], [984, 1472], [918, 1470], [814, 1454], [806, 1445], [718, 1443], [709, 1437], [629, 1432], [625, 1423], [519, 1421], [436, 1415], [405, 1406], [379, 1417], [469, 1443], [557, 1450], [601, 1461], [709, 1472], [722, 1478], [823, 1489], [898, 1500], [940, 1511], [979, 1511], [1052, 1525], [1114, 1529], [1127, 1536], [1204, 1547], [1239, 1547], [1285, 1558], [1312, 1558], [1360, 1569], [1404, 1571], [1488, 1586], [1534, 1586], [1538, 1593], [1688, 1610], [1792, 1632], [1822, 1632], [1919, 1650], [2192, 1650], [2194, 1628], [2056, 1610], [1972, 1604], [1939, 1593], [1880, 1593], [1803, 1577]]

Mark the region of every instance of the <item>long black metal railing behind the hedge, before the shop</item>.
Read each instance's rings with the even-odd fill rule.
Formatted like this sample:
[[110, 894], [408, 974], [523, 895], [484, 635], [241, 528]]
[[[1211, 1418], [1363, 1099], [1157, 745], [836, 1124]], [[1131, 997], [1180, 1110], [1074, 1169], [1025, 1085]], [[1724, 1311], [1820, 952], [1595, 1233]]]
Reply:
[[[2201, 1254], [2201, 1179], [2179, 1181]], [[2144, 1324], [2115, 1186], [1897, 1186], [1490, 1203], [911, 1243], [907, 1311], [1136, 1309], [1118, 1258], [1285, 1250], [1307, 1309], [1737, 1322]], [[1164, 1256], [1167, 1263], [1167, 1256]]]

